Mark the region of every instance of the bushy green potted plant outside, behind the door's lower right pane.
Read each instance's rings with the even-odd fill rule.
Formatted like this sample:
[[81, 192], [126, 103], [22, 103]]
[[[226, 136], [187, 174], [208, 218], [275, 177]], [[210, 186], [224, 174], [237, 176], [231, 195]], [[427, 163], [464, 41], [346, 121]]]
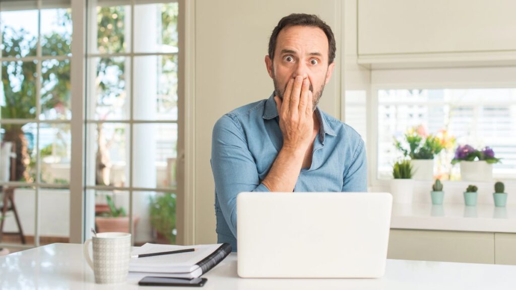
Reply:
[[175, 244], [175, 204], [176, 196], [168, 192], [151, 197], [149, 214], [159, 244]]

